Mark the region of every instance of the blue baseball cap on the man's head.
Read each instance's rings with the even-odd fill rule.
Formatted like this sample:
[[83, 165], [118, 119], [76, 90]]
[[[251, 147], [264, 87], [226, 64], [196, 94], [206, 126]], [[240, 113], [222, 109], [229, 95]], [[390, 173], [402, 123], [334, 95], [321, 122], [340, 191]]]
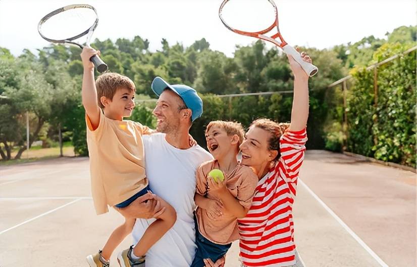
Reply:
[[191, 121], [201, 117], [203, 113], [203, 101], [197, 95], [197, 92], [190, 86], [184, 84], [169, 84], [161, 77], [155, 77], [150, 85], [153, 93], [161, 96], [165, 88], [170, 88], [184, 101], [187, 108], [191, 109]]

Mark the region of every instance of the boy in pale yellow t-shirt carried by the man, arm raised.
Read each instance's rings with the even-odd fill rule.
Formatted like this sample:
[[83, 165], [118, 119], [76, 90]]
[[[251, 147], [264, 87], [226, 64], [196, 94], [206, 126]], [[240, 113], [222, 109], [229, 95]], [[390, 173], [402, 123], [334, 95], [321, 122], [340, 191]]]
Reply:
[[[125, 222], [113, 231], [102, 250], [87, 256], [87, 261], [93, 267], [109, 266], [111, 254], [131, 233], [136, 217], [147, 218], [141, 213], [140, 205], [153, 204], [159, 210], [153, 215], [157, 220], [147, 228], [136, 246], [123, 250], [117, 257], [122, 267], [143, 267], [148, 249], [175, 224], [176, 212], [166, 201], [148, 192], [142, 135], [153, 131], [138, 122], [123, 120], [135, 107], [135, 85], [128, 77], [117, 73], [102, 74], [94, 82], [90, 58], [97, 54], [99, 52], [88, 47], [81, 53], [91, 191], [97, 214], [108, 212], [110, 205], [124, 215]], [[144, 198], [147, 202], [142, 202]], [[126, 215], [132, 213], [137, 216]]]

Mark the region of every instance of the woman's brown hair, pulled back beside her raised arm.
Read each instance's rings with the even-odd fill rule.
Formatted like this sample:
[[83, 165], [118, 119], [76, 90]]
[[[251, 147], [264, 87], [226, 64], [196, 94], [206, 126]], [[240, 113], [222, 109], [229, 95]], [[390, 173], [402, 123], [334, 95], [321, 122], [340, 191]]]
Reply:
[[254, 120], [249, 128], [251, 127], [258, 127], [263, 130], [266, 130], [270, 133], [270, 139], [268, 140], [268, 149], [269, 150], [277, 150], [278, 154], [274, 160], [277, 160], [281, 156], [280, 152], [280, 139], [284, 132], [287, 131], [288, 127], [290, 126], [289, 123], [278, 123], [270, 119], [256, 119]]

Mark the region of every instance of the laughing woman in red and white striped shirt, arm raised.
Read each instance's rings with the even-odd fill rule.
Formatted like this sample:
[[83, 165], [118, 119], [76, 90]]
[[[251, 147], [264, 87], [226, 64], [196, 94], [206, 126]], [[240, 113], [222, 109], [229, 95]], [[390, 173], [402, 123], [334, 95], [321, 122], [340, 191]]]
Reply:
[[[305, 53], [301, 56], [311, 63]], [[296, 264], [292, 204], [307, 141], [308, 75], [291, 56], [289, 63], [294, 74], [290, 124], [255, 120], [240, 146], [242, 163], [251, 166], [259, 177], [249, 212], [238, 219], [243, 266]], [[224, 258], [216, 263], [205, 260], [205, 264], [223, 265]]]

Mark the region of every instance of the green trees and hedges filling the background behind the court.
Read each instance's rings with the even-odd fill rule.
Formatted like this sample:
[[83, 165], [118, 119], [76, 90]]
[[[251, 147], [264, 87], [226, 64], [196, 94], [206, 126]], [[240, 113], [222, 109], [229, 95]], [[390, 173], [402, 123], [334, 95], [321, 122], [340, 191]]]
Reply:
[[[378, 72], [378, 105], [374, 103], [373, 73], [364, 67], [380, 62], [415, 45], [416, 28], [399, 27], [386, 39], [364, 37], [332, 49], [306, 51], [320, 72], [309, 81], [310, 115], [307, 148], [350, 151], [382, 160], [412, 165], [415, 162], [415, 56], [410, 54]], [[149, 42], [132, 39], [95, 39], [92, 47], [101, 51], [112, 72], [131, 78], [138, 98], [155, 98], [150, 84], [161, 76], [172, 84], [193, 86], [204, 103], [202, 117], [191, 133], [201, 145], [205, 125], [211, 120], [236, 120], [248, 126], [253, 119], [290, 119], [293, 78], [287, 57], [278, 49], [267, 49], [263, 41], [237, 46], [233, 57], [210, 48], [202, 38], [191, 46], [170, 44], [162, 39], [161, 50], [149, 51]], [[84, 109], [81, 105], [82, 63], [80, 50], [49, 46], [35, 55], [24, 50], [19, 57], [0, 48], [0, 154], [25, 149], [25, 116], [29, 114], [31, 142], [43, 132], [60, 127], [71, 134], [76, 154], [87, 155]], [[413, 65], [414, 64], [414, 65]], [[328, 85], [353, 68], [354, 86], [348, 96], [348, 128], [342, 124], [343, 96], [340, 87]], [[95, 73], [96, 77], [99, 75]], [[221, 98], [217, 95], [282, 92], [266, 96]], [[154, 127], [153, 104], [137, 105], [131, 117]], [[345, 133], [348, 133], [346, 136]], [[411, 141], [410, 141], [411, 140]], [[21, 154], [21, 153], [20, 153]]]

